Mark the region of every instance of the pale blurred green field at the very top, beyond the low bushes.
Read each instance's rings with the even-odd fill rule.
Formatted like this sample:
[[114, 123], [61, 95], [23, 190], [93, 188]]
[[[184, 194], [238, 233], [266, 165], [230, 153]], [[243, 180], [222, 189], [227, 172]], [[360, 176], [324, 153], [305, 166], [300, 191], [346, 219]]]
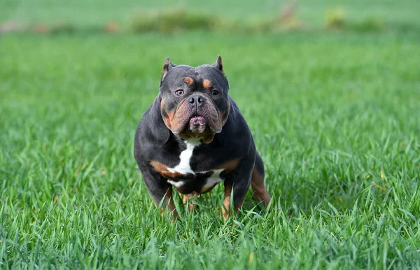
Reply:
[[[221, 16], [263, 17], [276, 15], [293, 1], [54, 1], [54, 0], [2, 0], [0, 21], [69, 22], [77, 25], [104, 24], [109, 21], [127, 23], [136, 11], [182, 8], [190, 12], [204, 12]], [[297, 1], [297, 16], [310, 25], [321, 26], [325, 10], [337, 6], [344, 8], [350, 20], [380, 17], [391, 23], [420, 25], [420, 3], [415, 0], [302, 0]]]

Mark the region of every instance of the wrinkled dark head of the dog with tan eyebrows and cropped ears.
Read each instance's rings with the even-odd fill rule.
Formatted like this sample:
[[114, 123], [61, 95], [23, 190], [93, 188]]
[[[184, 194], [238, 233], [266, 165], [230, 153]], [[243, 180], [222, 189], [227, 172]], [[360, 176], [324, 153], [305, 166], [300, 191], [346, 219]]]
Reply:
[[160, 112], [165, 125], [183, 139], [211, 143], [228, 120], [229, 83], [222, 59], [198, 67], [176, 66], [166, 59], [160, 83]]

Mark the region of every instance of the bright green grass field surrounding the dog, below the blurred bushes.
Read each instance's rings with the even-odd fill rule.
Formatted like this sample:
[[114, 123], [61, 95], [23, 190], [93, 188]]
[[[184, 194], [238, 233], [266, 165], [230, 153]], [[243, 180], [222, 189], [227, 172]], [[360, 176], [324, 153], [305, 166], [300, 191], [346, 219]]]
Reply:
[[[419, 269], [420, 38], [0, 40], [0, 269]], [[223, 56], [275, 210], [160, 217], [132, 156], [163, 60]], [[235, 226], [236, 225], [236, 226]]]

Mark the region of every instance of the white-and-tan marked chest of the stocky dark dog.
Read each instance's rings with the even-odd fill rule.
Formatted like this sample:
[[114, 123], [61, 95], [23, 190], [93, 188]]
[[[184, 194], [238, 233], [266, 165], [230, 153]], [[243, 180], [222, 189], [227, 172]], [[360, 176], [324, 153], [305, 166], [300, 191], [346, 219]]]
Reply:
[[[176, 166], [167, 166], [155, 161], [152, 161], [151, 165], [158, 173], [167, 178], [167, 183], [176, 187], [183, 194], [207, 192], [225, 180], [225, 173], [232, 169], [232, 164], [228, 164], [230, 166], [223, 166], [223, 164], [211, 166], [211, 163], [214, 162], [204, 160], [206, 157], [197, 156], [195, 150], [200, 144], [199, 141], [186, 141], [186, 148], [179, 154], [179, 162]], [[201, 166], [196, 166], [197, 168], [193, 169], [191, 166], [193, 159]]]

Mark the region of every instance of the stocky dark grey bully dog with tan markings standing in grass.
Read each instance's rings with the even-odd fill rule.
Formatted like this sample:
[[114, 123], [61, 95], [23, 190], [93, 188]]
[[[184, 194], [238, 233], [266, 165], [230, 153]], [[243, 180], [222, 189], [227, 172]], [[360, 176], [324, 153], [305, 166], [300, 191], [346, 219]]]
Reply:
[[257, 201], [271, 200], [264, 164], [228, 90], [220, 55], [197, 67], [177, 66], [167, 57], [158, 97], [139, 122], [134, 157], [155, 204], [162, 201], [175, 218], [173, 187], [186, 203], [223, 182], [225, 219], [232, 214], [231, 194], [238, 213], [250, 185]]

